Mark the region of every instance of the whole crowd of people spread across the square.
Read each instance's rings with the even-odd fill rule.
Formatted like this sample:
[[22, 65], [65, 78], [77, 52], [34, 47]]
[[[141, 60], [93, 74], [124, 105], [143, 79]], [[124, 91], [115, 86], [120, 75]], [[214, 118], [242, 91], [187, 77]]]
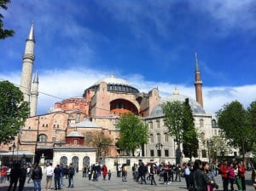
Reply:
[[[252, 165], [252, 180], [253, 187], [256, 190], [256, 166]], [[61, 189], [63, 179], [68, 179], [67, 188], [73, 188], [73, 176], [76, 172], [73, 164], [70, 165], [55, 165], [51, 163], [47, 164], [44, 171], [38, 164], [14, 164], [8, 166], [2, 166], [1, 169], [1, 182], [9, 182], [8, 191], [16, 190], [22, 191], [27, 180], [27, 183], [33, 182], [34, 190], [41, 191], [43, 173], [45, 173], [45, 188], [46, 190]], [[245, 173], [246, 168], [243, 162], [236, 161], [228, 163], [224, 159], [223, 163], [209, 164], [208, 162], [202, 162], [200, 159], [196, 159], [194, 163], [184, 163], [183, 165], [173, 164], [160, 164], [155, 163], [140, 163], [139, 165], [132, 165], [132, 177], [135, 182], [141, 184], [151, 184], [157, 186], [155, 177], [157, 176], [159, 181], [163, 184], [171, 184], [172, 182], [181, 182], [181, 177], [186, 182], [186, 188], [189, 191], [213, 191], [218, 189], [218, 184], [215, 182], [216, 176], [222, 177], [223, 190], [228, 191], [245, 191]], [[121, 177], [121, 181], [127, 181], [127, 170], [125, 164], [116, 165], [117, 177]], [[5, 176], [3, 176], [5, 175]], [[100, 177], [102, 180], [111, 180], [112, 172], [108, 170], [107, 165], [100, 165], [98, 163], [93, 165], [84, 165], [82, 169], [82, 177], [88, 177], [89, 181], [98, 181]]]

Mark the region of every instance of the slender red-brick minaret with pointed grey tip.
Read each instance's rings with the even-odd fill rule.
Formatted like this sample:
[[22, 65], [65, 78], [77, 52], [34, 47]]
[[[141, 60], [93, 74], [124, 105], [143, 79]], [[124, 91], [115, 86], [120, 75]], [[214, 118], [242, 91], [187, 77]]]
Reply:
[[199, 64], [197, 61], [197, 54], [195, 52], [195, 98], [196, 101], [200, 103], [201, 107], [203, 107], [202, 100], [202, 81], [201, 81], [201, 72], [199, 70]]

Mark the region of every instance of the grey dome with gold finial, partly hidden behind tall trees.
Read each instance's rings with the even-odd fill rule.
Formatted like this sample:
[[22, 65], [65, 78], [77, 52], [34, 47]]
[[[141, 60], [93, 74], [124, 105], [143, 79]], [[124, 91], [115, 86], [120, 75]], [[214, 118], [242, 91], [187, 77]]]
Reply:
[[152, 112], [150, 113], [150, 117], [158, 117], [164, 115], [162, 108], [160, 107], [160, 104], [167, 102], [167, 101], [185, 101], [187, 98], [189, 98], [189, 106], [191, 107], [193, 114], [205, 114], [205, 110], [201, 107], [201, 105], [195, 101], [194, 99], [188, 97], [179, 95], [176, 91], [172, 96], [167, 96], [165, 99], [160, 101], [160, 103], [154, 107]]

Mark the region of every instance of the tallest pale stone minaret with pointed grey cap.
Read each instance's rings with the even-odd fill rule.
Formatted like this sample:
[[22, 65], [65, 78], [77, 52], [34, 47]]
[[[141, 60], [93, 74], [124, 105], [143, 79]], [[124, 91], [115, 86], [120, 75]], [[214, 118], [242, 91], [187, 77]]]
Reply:
[[20, 90], [23, 93], [24, 101], [27, 101], [28, 103], [30, 103], [30, 91], [31, 91], [31, 85], [32, 85], [32, 68], [33, 68], [33, 61], [35, 60], [34, 48], [35, 48], [34, 23], [32, 22], [30, 32], [26, 39], [25, 53], [22, 56], [23, 64], [22, 64], [22, 72], [21, 72], [21, 80], [20, 80]]

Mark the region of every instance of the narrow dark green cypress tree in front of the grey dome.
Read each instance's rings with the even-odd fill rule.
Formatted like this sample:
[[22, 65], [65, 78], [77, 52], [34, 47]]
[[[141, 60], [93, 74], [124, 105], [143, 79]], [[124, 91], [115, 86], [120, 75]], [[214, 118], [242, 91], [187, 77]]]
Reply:
[[199, 141], [188, 98], [183, 102], [183, 108], [183, 154], [191, 160], [198, 156]]

